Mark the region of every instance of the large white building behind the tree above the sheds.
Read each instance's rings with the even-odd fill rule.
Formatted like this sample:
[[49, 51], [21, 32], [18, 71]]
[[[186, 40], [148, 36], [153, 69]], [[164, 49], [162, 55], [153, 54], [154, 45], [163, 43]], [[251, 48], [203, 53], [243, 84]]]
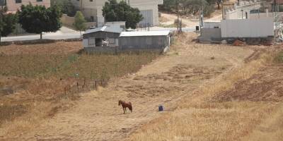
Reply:
[[[101, 26], [105, 23], [102, 9], [106, 1], [108, 0], [71, 0], [74, 6], [80, 9], [87, 19], [96, 22], [98, 26]], [[134, 8], [139, 8], [142, 16], [144, 16], [144, 20], [140, 22], [141, 24], [149, 24], [151, 26], [158, 25], [158, 5], [163, 4], [163, 0], [124, 1]]]

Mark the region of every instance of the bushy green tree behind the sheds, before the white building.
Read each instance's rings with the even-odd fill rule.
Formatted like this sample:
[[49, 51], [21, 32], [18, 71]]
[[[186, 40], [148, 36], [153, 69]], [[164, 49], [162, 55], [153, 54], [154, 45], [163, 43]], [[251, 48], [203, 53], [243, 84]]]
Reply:
[[126, 21], [126, 27], [135, 29], [143, 17], [138, 8], [132, 8], [125, 1], [108, 0], [103, 6], [103, 16], [106, 22]]

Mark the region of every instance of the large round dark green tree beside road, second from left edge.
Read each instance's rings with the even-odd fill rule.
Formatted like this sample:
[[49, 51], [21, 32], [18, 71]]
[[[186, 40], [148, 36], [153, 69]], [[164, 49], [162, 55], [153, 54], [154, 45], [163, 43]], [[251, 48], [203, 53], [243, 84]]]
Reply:
[[21, 23], [23, 29], [29, 33], [40, 34], [42, 39], [42, 32], [56, 32], [62, 26], [60, 18], [62, 16], [59, 7], [51, 6], [33, 6], [28, 4], [22, 5], [21, 11], [18, 11], [18, 21]]

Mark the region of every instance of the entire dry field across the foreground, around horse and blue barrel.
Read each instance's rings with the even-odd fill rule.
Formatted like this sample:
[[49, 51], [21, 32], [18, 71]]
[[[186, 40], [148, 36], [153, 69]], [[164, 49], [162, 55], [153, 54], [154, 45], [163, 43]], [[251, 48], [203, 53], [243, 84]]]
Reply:
[[[281, 47], [191, 42], [196, 36], [180, 35], [159, 57], [76, 54], [81, 47], [30, 57], [0, 47], [10, 57], [0, 60], [0, 140], [280, 140]], [[105, 76], [107, 87], [60, 94], [60, 85]], [[133, 112], [123, 114], [119, 99]]]

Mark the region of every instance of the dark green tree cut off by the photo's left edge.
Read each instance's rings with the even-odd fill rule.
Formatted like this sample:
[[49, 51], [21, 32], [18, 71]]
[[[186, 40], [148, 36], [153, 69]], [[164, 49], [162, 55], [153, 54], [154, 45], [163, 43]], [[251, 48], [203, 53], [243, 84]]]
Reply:
[[6, 13], [6, 6], [0, 7], [0, 42], [1, 37], [8, 36], [16, 28], [17, 16], [13, 13]]

